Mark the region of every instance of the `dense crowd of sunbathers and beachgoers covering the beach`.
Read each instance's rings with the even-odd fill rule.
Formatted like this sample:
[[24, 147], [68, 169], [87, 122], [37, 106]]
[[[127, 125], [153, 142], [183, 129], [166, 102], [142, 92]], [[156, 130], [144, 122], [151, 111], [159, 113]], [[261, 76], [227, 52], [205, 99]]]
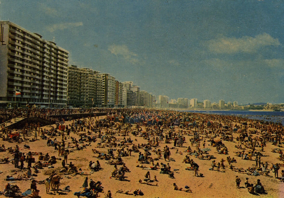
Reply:
[[[71, 120], [70, 124], [65, 124], [65, 120], [62, 119], [61, 122], [48, 128], [42, 126], [40, 122], [26, 123], [22, 130], [18, 130], [18, 137], [24, 141], [21, 142], [21, 145], [25, 149], [30, 149], [27, 143], [46, 141], [46, 146], [54, 147], [58, 156], [57, 154], [49, 156], [48, 153], [35, 150], [30, 150], [25, 154], [18, 144], [15, 147], [6, 148], [5, 141], [18, 143], [18, 139], [13, 139], [13, 130], [2, 125], [0, 151], [7, 152], [9, 157], [0, 159], [0, 163], [11, 163], [13, 168], [24, 170], [23, 174], [18, 174], [17, 177], [8, 175], [6, 180], [31, 181], [31, 193], [26, 196], [37, 197], [39, 191], [36, 183], [45, 184], [47, 194], [50, 188], [58, 193], [61, 190], [59, 187], [63, 176], [90, 176], [93, 172], [103, 170], [99, 160], [104, 160], [105, 164], [114, 166], [110, 178], [129, 181], [126, 179], [126, 175], [131, 174], [131, 170], [127, 167], [128, 160], [125, 159], [135, 156], [137, 163], [139, 163], [136, 167], [147, 170], [145, 178], [140, 179], [139, 183], [152, 186], [158, 186], [156, 175], [151, 180], [150, 174], [154, 170], [159, 170], [160, 174], [167, 174], [170, 179], [175, 179], [174, 174], [180, 167], [171, 166], [171, 163], [175, 161], [174, 154], [184, 155], [180, 162], [186, 164], [185, 170], [194, 171], [193, 176], [196, 177], [204, 177], [202, 173], [199, 173], [201, 167], [199, 160], [214, 159], [208, 167], [211, 171], [222, 172], [222, 170], [228, 169], [248, 176], [269, 176], [269, 170], [271, 170], [276, 179], [279, 178], [278, 170], [284, 166], [283, 163], [280, 163], [283, 160], [281, 147], [284, 143], [282, 138], [284, 128], [280, 123], [250, 120], [239, 116], [141, 109], [8, 109], [0, 110], [0, 114], [2, 122], [4, 122], [11, 117], [27, 113], [58, 115], [95, 113], [103, 110], [106, 111], [106, 116], [103, 119], [96, 116], [82, 117]], [[137, 138], [142, 139], [143, 143], [136, 145]], [[25, 145], [23, 145], [24, 143]], [[72, 155], [72, 152], [87, 150], [91, 143], [96, 145], [92, 146], [91, 150], [98, 159], [89, 161], [89, 166], [86, 167], [92, 173], [83, 171], [82, 168], [78, 168], [77, 164], [68, 160], [68, 156]], [[236, 152], [229, 150], [227, 145], [230, 143], [235, 143]], [[187, 144], [186, 147], [185, 144]], [[272, 152], [279, 153], [279, 163], [270, 162], [269, 164], [266, 160], [267, 156], [264, 154], [264, 150], [267, 144], [277, 147]], [[106, 149], [107, 152], [105, 152]], [[215, 151], [213, 155], [210, 150]], [[131, 155], [131, 152], [137, 154]], [[229, 154], [232, 156], [233, 152], [235, 155], [230, 157]], [[224, 155], [226, 158], [222, 157]], [[216, 156], [222, 157], [220, 162], [215, 160]], [[254, 164], [249, 167], [237, 168], [237, 164], [241, 160], [250, 160]], [[55, 172], [54, 167], [58, 167], [58, 164], [61, 164], [60, 169]], [[53, 169], [49, 178], [36, 180], [40, 170], [49, 168]], [[207, 167], [202, 165], [202, 169], [207, 169]], [[284, 182], [284, 170], [280, 174], [279, 179]], [[93, 182], [91, 179], [88, 185], [87, 180], [86, 177], [82, 186], [83, 190], [74, 193], [74, 195], [98, 197], [100, 193], [104, 193], [102, 182]], [[241, 179], [238, 176], [235, 182], [237, 188], [240, 188]], [[256, 184], [251, 184], [248, 181], [245, 184], [251, 194], [266, 192], [260, 180], [257, 180]], [[194, 193], [189, 186], [184, 189], [178, 188], [176, 183], [173, 185], [174, 190]], [[65, 190], [68, 191], [68, 188]], [[105, 197], [112, 196], [110, 190], [107, 191]], [[5, 187], [4, 193], [8, 191], [10, 191], [9, 185], [7, 189]], [[135, 190], [119, 189], [116, 192], [127, 195], [144, 194], [139, 187]]]

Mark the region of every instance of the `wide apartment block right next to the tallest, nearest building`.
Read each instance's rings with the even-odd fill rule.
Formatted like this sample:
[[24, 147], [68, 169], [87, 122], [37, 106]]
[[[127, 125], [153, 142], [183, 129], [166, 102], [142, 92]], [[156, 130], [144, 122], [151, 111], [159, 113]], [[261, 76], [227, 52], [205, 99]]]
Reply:
[[68, 67], [68, 104], [74, 107], [99, 107], [102, 104], [102, 78], [99, 71]]

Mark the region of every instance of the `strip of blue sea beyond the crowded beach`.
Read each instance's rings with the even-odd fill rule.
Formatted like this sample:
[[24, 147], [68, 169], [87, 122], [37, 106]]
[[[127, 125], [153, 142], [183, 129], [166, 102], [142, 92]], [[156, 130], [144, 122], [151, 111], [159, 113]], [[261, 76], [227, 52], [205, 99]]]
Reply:
[[264, 122], [282, 123], [284, 125], [284, 112], [270, 112], [270, 111], [219, 111], [219, 110], [185, 110], [183, 112], [194, 112], [201, 114], [216, 114], [226, 116], [239, 116], [249, 119], [263, 120]]

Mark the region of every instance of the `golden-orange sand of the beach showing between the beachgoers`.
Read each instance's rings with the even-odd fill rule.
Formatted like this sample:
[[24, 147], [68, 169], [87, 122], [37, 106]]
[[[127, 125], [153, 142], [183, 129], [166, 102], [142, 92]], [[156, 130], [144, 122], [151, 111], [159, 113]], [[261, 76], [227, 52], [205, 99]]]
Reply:
[[[106, 116], [101, 116], [99, 119], [105, 119]], [[97, 118], [98, 119], [98, 118]], [[206, 118], [208, 120], [208, 118]], [[72, 125], [71, 121], [65, 121], [64, 125]], [[213, 121], [213, 123], [216, 121]], [[222, 120], [220, 122], [224, 123]], [[230, 121], [226, 120], [227, 125], [234, 126], [236, 124], [236, 121]], [[248, 123], [249, 124], [249, 123]], [[241, 125], [239, 122], [237, 122], [237, 125]], [[51, 127], [56, 127], [56, 125], [50, 125], [50, 126], [41, 126], [43, 129], [50, 130]], [[233, 127], [229, 126], [232, 130]], [[222, 127], [221, 127], [222, 128]], [[136, 129], [136, 124], [133, 124], [131, 127], [131, 130]], [[119, 143], [120, 141], [123, 141], [123, 138], [131, 138], [133, 140], [134, 145], [138, 144], [147, 144], [149, 141], [147, 139], [144, 139], [143, 137], [139, 137], [140, 135], [134, 136], [133, 134], [129, 133], [126, 136], [122, 136], [123, 133], [118, 133], [115, 127], [112, 127], [109, 129], [110, 131], [114, 131], [114, 137], [117, 139], [116, 142]], [[129, 130], [129, 131], [131, 131]], [[152, 127], [151, 127], [152, 130]], [[154, 128], [153, 128], [154, 130]], [[262, 162], [268, 162], [268, 170], [270, 170], [269, 176], [259, 175], [259, 176], [253, 176], [247, 174], [247, 168], [253, 167], [255, 164], [255, 157], [252, 157], [252, 160], [243, 160], [241, 157], [235, 156], [235, 152], [242, 151], [243, 149], [237, 149], [235, 146], [239, 145], [239, 141], [236, 140], [237, 137], [239, 137], [240, 133], [237, 131], [234, 131], [232, 133], [233, 141], [222, 141], [222, 143], [225, 144], [228, 150], [228, 154], [218, 154], [216, 151], [216, 147], [212, 147], [210, 143], [210, 137], [212, 134], [208, 135], [206, 137], [205, 134], [200, 133], [201, 137], [201, 145], [200, 148], [202, 148], [202, 143], [205, 140], [205, 148], [211, 149], [208, 151], [208, 155], [214, 156], [213, 159], [210, 160], [201, 160], [199, 158], [196, 158], [195, 156], [190, 155], [188, 152], [186, 152], [186, 149], [188, 146], [191, 146], [190, 139], [193, 138], [193, 133], [195, 131], [195, 128], [186, 130], [181, 129], [178, 126], [174, 127], [174, 132], [176, 134], [180, 133], [185, 137], [185, 142], [183, 143], [183, 147], [174, 147], [174, 141], [170, 140], [170, 143], [166, 144], [163, 140], [158, 147], [152, 147], [151, 157], [157, 158], [157, 155], [153, 150], [160, 149], [163, 150], [164, 147], [168, 146], [170, 148], [170, 161], [165, 161], [162, 157], [158, 160], [154, 160], [154, 163], [159, 162], [159, 164], [162, 163], [169, 163], [171, 170], [174, 172], [174, 178], [170, 178], [168, 174], [160, 174], [160, 169], [158, 170], [143, 170], [142, 168], [136, 167], [137, 165], [141, 165], [141, 163], [138, 162], [139, 152], [132, 152], [131, 156], [122, 157], [123, 162], [126, 164], [126, 166], [129, 168], [130, 172], [125, 173], [124, 180], [116, 180], [111, 176], [112, 171], [114, 170], [114, 165], [109, 165], [106, 162], [108, 160], [102, 160], [98, 159], [97, 156], [98, 153], [93, 153], [92, 149], [96, 149], [99, 152], [108, 153], [108, 149], [110, 147], [105, 148], [99, 148], [98, 146], [102, 146], [103, 144], [98, 145], [100, 142], [100, 139], [97, 138], [96, 142], [91, 142], [89, 146], [86, 146], [83, 150], [72, 150], [73, 152], [70, 152], [68, 155], [68, 163], [72, 162], [78, 169], [81, 168], [84, 173], [87, 173], [89, 175], [79, 175], [79, 174], [64, 174], [59, 173], [59, 170], [62, 168], [61, 161], [64, 159], [63, 156], [58, 156], [58, 150], [55, 150], [54, 147], [47, 146], [47, 140], [41, 139], [40, 137], [37, 137], [37, 141], [34, 142], [22, 142], [22, 143], [9, 143], [7, 141], [0, 141], [0, 144], [4, 144], [5, 148], [8, 147], [15, 147], [15, 145], [18, 145], [20, 148], [20, 152], [24, 152], [27, 154], [29, 151], [32, 152], [42, 152], [43, 154], [49, 153], [50, 156], [55, 156], [56, 158], [61, 158], [62, 160], [57, 160], [56, 164], [53, 164], [54, 168], [47, 168], [44, 167], [43, 169], [39, 169], [39, 173], [37, 173], [37, 176], [35, 176], [35, 180], [45, 180], [49, 177], [52, 170], [55, 170], [56, 173], [58, 173], [61, 177], [60, 179], [60, 189], [63, 189], [65, 186], [70, 186], [70, 192], [64, 192], [59, 191], [59, 193], [54, 192], [50, 190], [49, 194], [47, 194], [45, 191], [45, 185], [44, 184], [37, 184], [37, 189], [39, 189], [39, 196], [41, 197], [77, 197], [74, 195], [74, 192], [79, 192], [83, 190], [83, 183], [85, 181], [86, 176], [88, 177], [88, 183], [90, 179], [92, 179], [94, 182], [100, 181], [102, 184], [101, 186], [104, 187], [104, 193], [100, 192], [99, 195], [101, 197], [104, 197], [105, 193], [107, 193], [108, 190], [111, 191], [112, 197], [131, 197], [133, 195], [126, 195], [122, 193], [117, 193], [116, 191], [123, 189], [123, 190], [135, 190], [135, 189], [141, 189], [143, 192], [143, 196], [139, 197], [160, 197], [160, 198], [166, 198], [166, 197], [255, 197], [256, 195], [252, 195], [248, 192], [247, 188], [245, 188], [245, 178], [249, 178], [249, 183], [256, 184], [257, 179], [260, 179], [260, 182], [264, 186], [264, 189], [266, 190], [266, 194], [259, 194], [259, 197], [283, 197], [283, 183], [280, 181], [280, 179], [277, 179], [274, 177], [274, 173], [272, 170], [270, 170], [270, 167], [273, 164], [280, 163], [283, 164], [277, 157], [279, 157], [279, 153], [271, 152], [272, 149], [281, 149], [279, 146], [272, 145], [272, 142], [266, 142], [266, 146], [264, 147], [264, 152], [262, 153], [261, 160]], [[254, 128], [247, 128], [247, 132], [249, 131], [257, 131], [256, 134], [250, 134], [252, 139], [256, 137], [260, 137], [262, 134], [260, 133], [259, 129]], [[101, 130], [101, 133], [104, 134], [106, 131], [105, 128]], [[123, 131], [123, 129], [122, 129]], [[146, 127], [142, 126], [142, 131], [146, 131]], [[169, 129], [166, 129], [166, 132], [168, 132]], [[200, 131], [199, 128], [197, 128], [197, 131]], [[210, 127], [207, 127], [206, 123], [204, 124], [203, 131], [210, 131]], [[282, 131], [283, 132], [283, 131]], [[165, 131], [163, 134], [166, 134]], [[66, 132], [65, 132], [66, 135]], [[95, 136], [98, 135], [98, 133], [92, 132], [90, 135]], [[31, 133], [30, 136], [27, 138], [32, 139], [34, 137], [34, 131]], [[70, 133], [70, 137], [74, 137], [77, 140], [80, 139], [80, 137], [77, 134], [74, 134], [73, 132]], [[149, 138], [153, 139], [157, 136], [150, 135]], [[221, 137], [221, 135], [217, 135], [218, 138]], [[51, 139], [57, 138], [58, 141], [61, 141], [61, 136], [53, 137]], [[71, 142], [71, 138], [67, 137], [67, 142]], [[86, 145], [89, 144], [88, 142], [85, 143]], [[131, 148], [133, 144], [129, 144], [126, 146], [123, 146], [126, 150], [127, 148]], [[24, 145], [29, 145], [30, 149], [25, 149]], [[80, 144], [82, 145], [82, 144]], [[191, 147], [192, 150], [195, 150], [196, 144], [194, 143], [194, 146]], [[281, 145], [280, 145], [281, 146]], [[121, 149], [120, 147], [113, 147], [113, 149]], [[176, 152], [178, 149], [178, 152]], [[260, 147], [255, 147], [256, 151], [259, 151]], [[250, 149], [245, 149], [245, 153], [249, 152]], [[144, 153], [143, 148], [139, 149], [140, 152]], [[179, 153], [180, 152], [180, 153]], [[190, 167], [190, 164], [182, 163], [185, 156], [188, 155], [190, 159], [193, 159], [195, 163], [199, 165], [199, 174], [203, 174], [202, 177], [195, 177], [194, 176], [194, 170], [185, 170], [185, 168]], [[206, 155], [206, 154], [204, 154]], [[117, 152], [114, 151], [114, 156], [117, 156]], [[236, 163], [232, 163], [232, 166], [234, 168], [243, 168], [243, 170], [246, 170], [246, 172], [235, 172], [229, 168], [229, 164], [226, 161], [226, 158], [230, 156], [231, 158], [236, 159]], [[13, 159], [12, 154], [5, 152], [0, 152], [0, 158], [9, 157], [9, 160]], [[38, 155], [34, 155], [35, 161], [38, 161]], [[224, 165], [225, 169], [220, 168], [220, 171], [217, 171], [216, 168], [212, 171], [209, 170], [211, 168], [212, 160], [215, 160], [218, 164], [221, 159], [224, 159]], [[99, 160], [99, 163], [101, 164], [102, 170], [99, 170], [97, 172], [93, 172], [88, 168], [89, 162], [93, 161], [96, 162]], [[66, 166], [67, 166], [66, 164]], [[142, 164], [144, 166], [152, 166], [151, 164]], [[33, 166], [33, 164], [32, 164]], [[117, 165], [119, 168], [121, 165]], [[27, 167], [27, 163], [24, 163], [24, 167]], [[280, 167], [279, 170], [279, 178], [281, 177], [281, 170], [283, 170], [283, 167]], [[14, 168], [14, 165], [10, 162], [8, 164], [1, 164], [0, 165], [0, 171], [2, 172], [0, 174], [0, 182], [1, 182], [1, 191], [4, 191], [5, 185], [9, 181], [5, 181], [7, 175], [12, 175], [13, 177], [16, 177], [19, 174], [25, 173], [27, 170], [23, 169], [20, 170], [18, 168]], [[157, 186], [151, 186], [146, 184], [139, 183], [139, 179], [143, 181], [145, 178], [145, 174], [147, 171], [150, 172], [151, 180], [153, 180], [154, 176], [156, 176], [158, 182], [151, 182], [153, 184], [157, 183]], [[34, 173], [34, 169], [32, 168], [32, 173]], [[240, 187], [236, 187], [235, 178], [236, 176], [239, 176], [241, 179]], [[22, 192], [26, 191], [30, 188], [31, 180], [21, 180], [21, 181], [15, 181], [16, 184]], [[173, 183], [176, 183], [178, 187], [182, 187], [185, 189], [185, 186], [189, 186], [189, 188], [192, 190], [192, 193], [184, 192], [184, 191], [176, 191], [174, 190]], [[2, 195], [3, 196], [3, 195]]]

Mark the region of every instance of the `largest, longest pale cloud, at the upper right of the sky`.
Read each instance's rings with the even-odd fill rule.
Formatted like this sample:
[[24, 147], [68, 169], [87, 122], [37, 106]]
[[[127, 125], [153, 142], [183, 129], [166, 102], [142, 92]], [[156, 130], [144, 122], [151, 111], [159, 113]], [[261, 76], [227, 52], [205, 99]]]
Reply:
[[272, 38], [269, 34], [263, 33], [255, 37], [244, 36], [242, 38], [217, 38], [206, 41], [204, 46], [214, 53], [252, 53], [264, 46], [278, 46], [280, 42], [277, 38]]

